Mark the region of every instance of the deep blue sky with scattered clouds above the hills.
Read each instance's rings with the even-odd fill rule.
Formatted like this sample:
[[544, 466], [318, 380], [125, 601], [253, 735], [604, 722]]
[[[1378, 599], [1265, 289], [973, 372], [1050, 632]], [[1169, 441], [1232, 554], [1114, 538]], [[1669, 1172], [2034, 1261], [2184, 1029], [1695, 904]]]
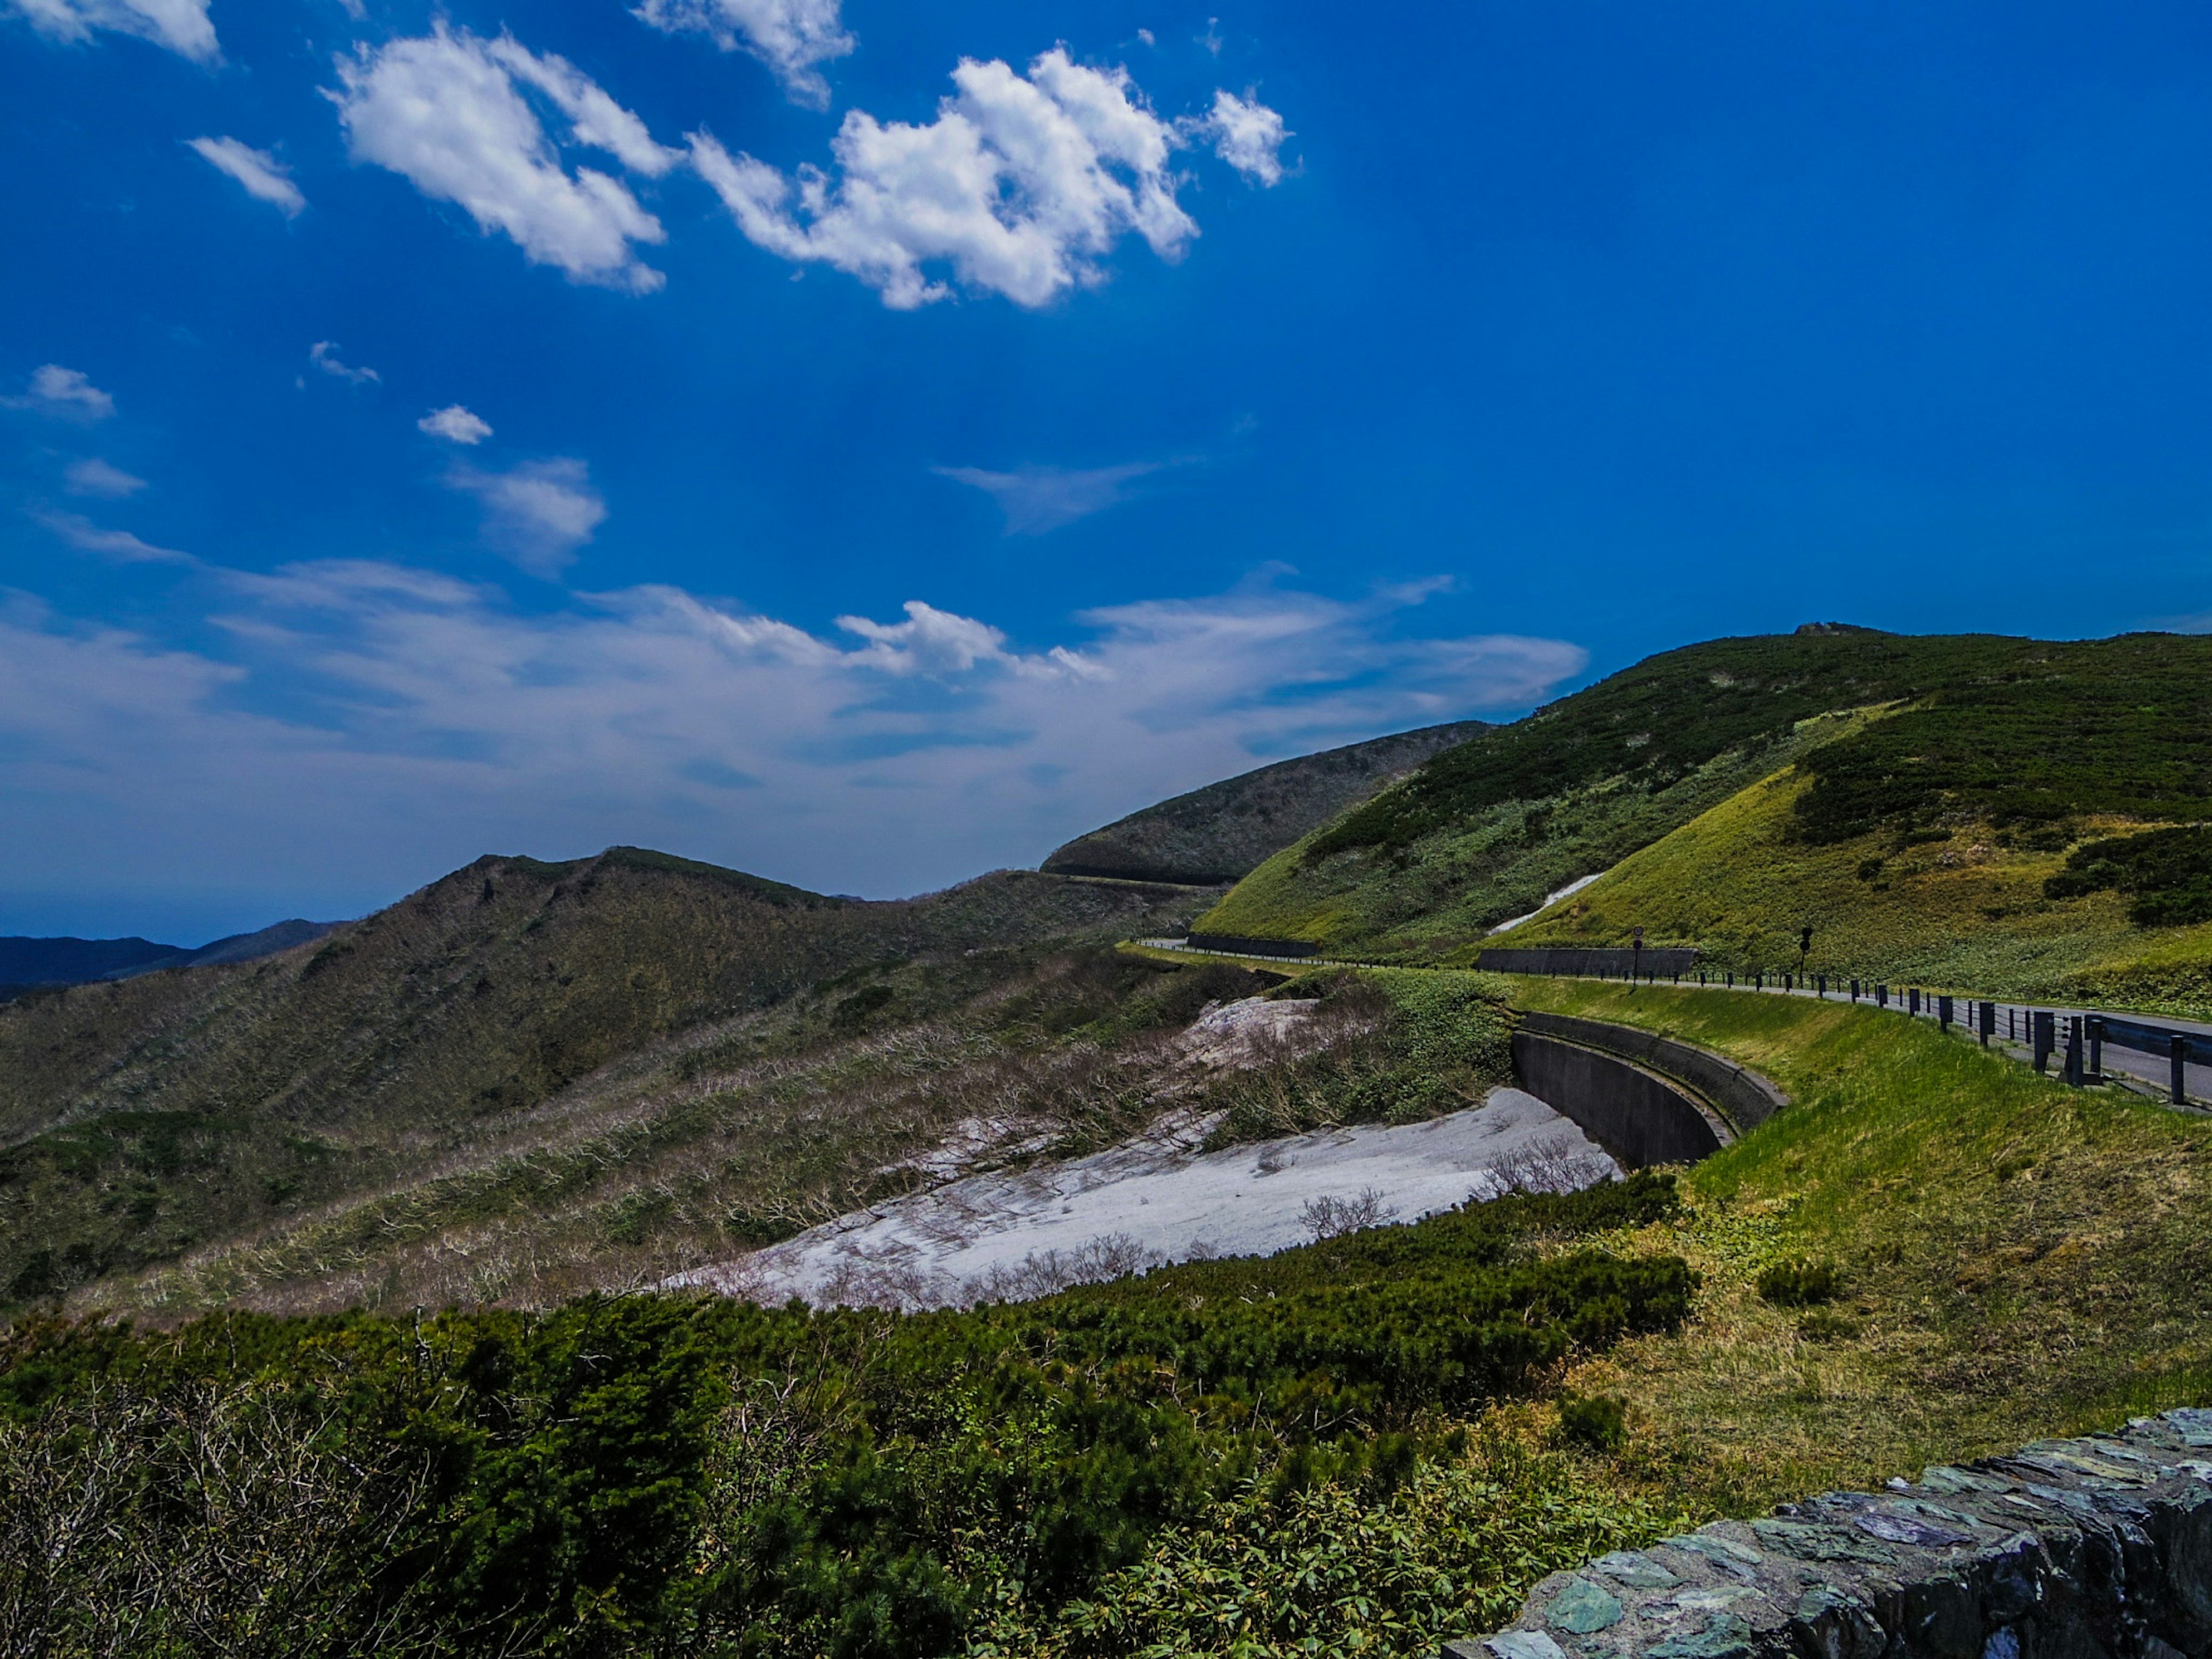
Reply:
[[2212, 613], [2201, 4], [0, 0], [0, 931]]

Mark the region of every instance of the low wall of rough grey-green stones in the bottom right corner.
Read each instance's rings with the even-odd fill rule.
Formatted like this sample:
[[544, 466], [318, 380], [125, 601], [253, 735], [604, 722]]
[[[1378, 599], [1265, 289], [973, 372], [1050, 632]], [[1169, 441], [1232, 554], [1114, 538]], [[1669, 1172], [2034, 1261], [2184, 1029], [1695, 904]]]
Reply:
[[1444, 1659], [2212, 1652], [2212, 1411], [1825, 1493], [1544, 1579]]

